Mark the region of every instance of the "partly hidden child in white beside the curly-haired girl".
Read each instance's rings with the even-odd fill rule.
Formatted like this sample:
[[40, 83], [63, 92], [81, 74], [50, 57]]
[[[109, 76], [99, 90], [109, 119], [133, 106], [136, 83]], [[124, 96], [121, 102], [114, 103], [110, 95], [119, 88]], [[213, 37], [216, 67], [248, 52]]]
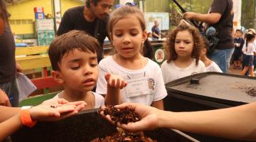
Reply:
[[206, 54], [208, 49], [209, 49], [209, 41], [205, 37], [203, 37], [203, 48], [202, 48], [200, 59], [203, 61], [204, 65], [206, 66], [206, 72], [222, 72], [222, 70], [220, 70], [220, 67], [215, 62], [213, 62], [213, 60], [210, 60], [209, 58], [207, 58]]

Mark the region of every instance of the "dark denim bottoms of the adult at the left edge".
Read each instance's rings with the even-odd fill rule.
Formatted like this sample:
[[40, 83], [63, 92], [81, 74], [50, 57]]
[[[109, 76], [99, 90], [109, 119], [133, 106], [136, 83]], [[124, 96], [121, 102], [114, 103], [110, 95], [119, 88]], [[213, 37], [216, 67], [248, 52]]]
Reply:
[[18, 107], [18, 86], [16, 78], [9, 82], [0, 83], [0, 88], [8, 95], [11, 107]]

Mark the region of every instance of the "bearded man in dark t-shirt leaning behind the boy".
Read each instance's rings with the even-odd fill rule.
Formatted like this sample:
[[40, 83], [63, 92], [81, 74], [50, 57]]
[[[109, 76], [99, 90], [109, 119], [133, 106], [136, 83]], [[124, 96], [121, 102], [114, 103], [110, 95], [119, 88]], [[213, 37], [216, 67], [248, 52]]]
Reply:
[[100, 62], [103, 54], [102, 45], [107, 37], [107, 17], [113, 4], [114, 0], [86, 0], [85, 6], [68, 9], [61, 19], [57, 35], [80, 30], [97, 38], [101, 45], [97, 55]]

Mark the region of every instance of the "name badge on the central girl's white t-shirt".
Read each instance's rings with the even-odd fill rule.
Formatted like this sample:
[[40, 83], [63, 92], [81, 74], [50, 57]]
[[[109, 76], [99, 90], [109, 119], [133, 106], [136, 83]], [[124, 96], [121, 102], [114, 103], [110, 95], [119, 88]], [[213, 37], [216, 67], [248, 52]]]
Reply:
[[148, 78], [146, 77], [127, 80], [127, 83], [127, 87], [124, 89], [128, 98], [151, 94]]

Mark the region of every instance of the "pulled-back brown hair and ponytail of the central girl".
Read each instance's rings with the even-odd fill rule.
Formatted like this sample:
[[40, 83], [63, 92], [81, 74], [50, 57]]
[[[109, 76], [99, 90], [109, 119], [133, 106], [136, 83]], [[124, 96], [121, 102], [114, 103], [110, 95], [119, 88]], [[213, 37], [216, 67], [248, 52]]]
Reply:
[[[107, 23], [107, 29], [108, 29], [111, 41], [113, 40], [112, 31], [113, 31], [114, 24], [116, 24], [122, 18], [127, 18], [129, 16], [136, 16], [139, 20], [140, 26], [142, 27], [142, 32], [146, 30], [146, 22], [145, 22], [144, 14], [142, 13], [142, 11], [140, 11], [134, 6], [122, 6], [119, 9], [114, 10], [110, 14], [110, 20]], [[153, 58], [153, 49], [149, 43], [149, 40], [147, 39], [144, 42], [142, 55], [150, 59]]]

